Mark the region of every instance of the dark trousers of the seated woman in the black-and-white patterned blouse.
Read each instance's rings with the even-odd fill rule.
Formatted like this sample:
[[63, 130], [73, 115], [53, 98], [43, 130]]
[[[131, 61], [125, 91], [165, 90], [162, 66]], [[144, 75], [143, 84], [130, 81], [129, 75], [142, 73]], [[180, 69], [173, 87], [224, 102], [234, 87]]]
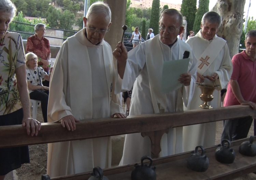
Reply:
[[41, 109], [42, 109], [45, 123], [47, 123], [48, 96], [49, 96], [49, 91], [44, 91], [44, 92], [32, 91], [31, 93], [29, 93], [29, 97], [31, 100], [41, 101]]

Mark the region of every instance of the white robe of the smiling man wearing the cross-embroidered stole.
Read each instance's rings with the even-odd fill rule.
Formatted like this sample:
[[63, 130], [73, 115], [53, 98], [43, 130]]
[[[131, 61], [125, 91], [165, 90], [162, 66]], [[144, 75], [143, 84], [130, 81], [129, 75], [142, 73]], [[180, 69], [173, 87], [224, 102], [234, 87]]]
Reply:
[[[213, 40], [217, 37], [214, 36]], [[207, 49], [209, 44], [213, 42], [213, 40], [204, 39], [201, 33], [201, 30], [196, 34], [196, 36], [191, 37], [187, 40], [187, 43], [191, 46], [195, 56], [197, 59], [200, 59], [204, 50]], [[224, 41], [224, 40], [223, 40]], [[220, 44], [216, 44], [215, 46], [220, 46]], [[211, 49], [214, 51], [214, 48]], [[232, 74], [232, 63], [229, 55], [229, 50], [227, 43], [224, 43], [223, 48], [216, 52], [216, 58], [209, 65], [208, 69], [202, 74], [203, 76], [212, 76], [213, 73], [218, 74], [218, 80], [220, 84], [220, 88], [223, 89], [229, 82], [229, 79]], [[197, 66], [199, 66], [201, 61], [198, 61]], [[210, 80], [205, 79], [203, 84], [212, 84]], [[201, 90], [199, 87], [195, 87], [194, 94], [192, 100], [187, 106], [187, 110], [192, 109], [201, 109], [199, 106], [203, 104], [203, 101], [200, 100], [199, 95], [201, 94]], [[221, 91], [214, 90], [213, 92], [213, 100], [208, 102], [213, 108], [221, 107]], [[186, 108], [185, 108], [186, 109]], [[209, 111], [205, 109], [205, 111]], [[184, 151], [194, 150], [196, 146], [204, 146], [209, 147], [215, 144], [215, 133], [216, 133], [216, 122], [212, 123], [204, 123], [204, 124], [196, 124], [191, 126], [183, 127], [183, 148]]]

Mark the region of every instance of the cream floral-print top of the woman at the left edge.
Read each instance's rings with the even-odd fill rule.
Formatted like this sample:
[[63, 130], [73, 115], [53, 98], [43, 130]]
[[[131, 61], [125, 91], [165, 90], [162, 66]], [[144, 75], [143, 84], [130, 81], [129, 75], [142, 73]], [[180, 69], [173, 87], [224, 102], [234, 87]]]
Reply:
[[22, 37], [7, 32], [0, 39], [0, 115], [22, 108], [17, 89], [16, 68], [25, 66]]

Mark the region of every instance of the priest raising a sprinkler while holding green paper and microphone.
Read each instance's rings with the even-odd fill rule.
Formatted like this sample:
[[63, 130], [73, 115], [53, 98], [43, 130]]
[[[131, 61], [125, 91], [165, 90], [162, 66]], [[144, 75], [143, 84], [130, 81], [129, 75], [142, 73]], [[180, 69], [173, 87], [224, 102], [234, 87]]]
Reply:
[[[165, 10], [161, 14], [159, 25], [160, 34], [139, 44], [128, 55], [124, 44], [120, 42], [113, 52], [120, 77], [116, 83], [116, 93], [119, 89], [129, 90], [133, 86], [129, 115], [183, 111], [183, 103], [187, 104], [189, 101], [190, 82], [195, 84], [196, 59], [190, 46], [177, 39], [184, 29], [181, 13], [175, 9]], [[178, 89], [163, 93], [163, 64], [166, 61], [183, 59], [184, 51], [189, 52], [189, 62], [186, 73], [179, 74], [180, 78], [177, 79], [182, 85]], [[182, 127], [170, 128], [161, 139], [159, 156], [182, 151]], [[143, 138], [141, 133], [126, 134], [123, 157], [119, 165], [138, 162], [145, 155], [151, 156], [149, 137]]]

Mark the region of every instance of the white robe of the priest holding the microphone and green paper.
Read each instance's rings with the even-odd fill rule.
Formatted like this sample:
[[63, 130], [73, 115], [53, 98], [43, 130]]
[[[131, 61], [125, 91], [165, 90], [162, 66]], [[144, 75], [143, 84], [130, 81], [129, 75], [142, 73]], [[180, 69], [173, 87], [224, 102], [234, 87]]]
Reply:
[[[170, 48], [160, 41], [159, 35], [156, 35], [129, 51], [123, 80], [119, 78], [115, 86], [116, 93], [120, 89], [130, 90], [133, 86], [129, 115], [183, 111], [183, 102], [187, 104], [189, 101], [189, 86], [182, 86], [167, 94], [161, 93], [160, 89], [163, 61], [182, 59], [184, 51], [190, 52], [187, 72], [192, 75], [190, 86], [193, 86], [196, 78], [196, 59], [193, 58], [188, 44], [180, 39]], [[159, 156], [182, 151], [182, 127], [170, 128], [161, 139]], [[145, 155], [151, 156], [149, 137], [143, 138], [141, 133], [126, 134], [120, 165], [139, 162]]]

